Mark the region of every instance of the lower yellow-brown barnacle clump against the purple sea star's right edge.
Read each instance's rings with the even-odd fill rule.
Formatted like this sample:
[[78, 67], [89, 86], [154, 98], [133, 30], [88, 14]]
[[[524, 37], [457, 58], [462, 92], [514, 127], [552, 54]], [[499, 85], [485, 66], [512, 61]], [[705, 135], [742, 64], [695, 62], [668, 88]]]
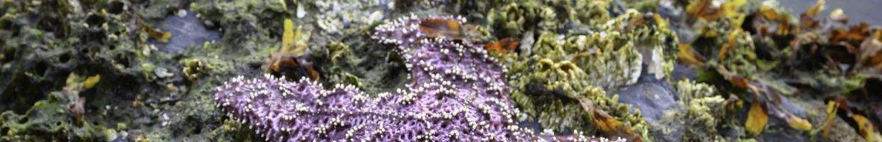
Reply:
[[555, 63], [548, 58], [538, 64], [533, 75], [513, 84], [526, 89], [514, 90], [512, 98], [528, 116], [537, 117], [539, 123], [557, 131], [599, 130], [596, 132], [610, 137], [647, 139], [647, 125], [639, 110], [632, 114], [628, 105], [617, 101], [617, 96], [607, 96], [600, 87], [591, 86], [585, 79], [586, 72], [577, 65], [569, 61]]

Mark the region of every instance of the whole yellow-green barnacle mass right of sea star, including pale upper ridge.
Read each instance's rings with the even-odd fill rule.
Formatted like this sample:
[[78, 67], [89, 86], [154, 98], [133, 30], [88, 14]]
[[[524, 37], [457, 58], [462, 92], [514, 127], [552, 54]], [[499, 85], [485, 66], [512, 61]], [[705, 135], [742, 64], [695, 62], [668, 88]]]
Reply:
[[[507, 5], [505, 9], [511, 9], [512, 6], [516, 4]], [[496, 11], [490, 11], [490, 14], [494, 12]], [[583, 16], [609, 17], [602, 12]], [[645, 58], [640, 53], [641, 50], [654, 53], [648, 56], [656, 57], [657, 66], [654, 68], [661, 69], [657, 72], [660, 78], [669, 76], [673, 70], [676, 36], [663, 23], [646, 16], [639, 11], [628, 10], [609, 20], [585, 20], [585, 24], [589, 25], [582, 26], [587, 27], [588, 32], [571, 34], [555, 34], [545, 30], [548, 27], [543, 26], [547, 25], [540, 24], [533, 30], [527, 30], [527, 33], [539, 34], [532, 44], [527, 45], [527, 49], [522, 48], [517, 53], [497, 54], [500, 61], [506, 64], [512, 98], [525, 113], [522, 119], [535, 118], [545, 128], [553, 131], [598, 132], [596, 127], [603, 123], [589, 123], [591, 121], [586, 113], [589, 110], [584, 110], [578, 101], [568, 97], [583, 96], [597, 102], [599, 108], [623, 122], [626, 129], [634, 131], [640, 139], [652, 141], [653, 138], [648, 136], [649, 126], [640, 116], [639, 110], [631, 111], [629, 105], [618, 102], [616, 95], [609, 96], [603, 91], [617, 90], [618, 87], [637, 82]], [[550, 20], [542, 19], [542, 22]], [[519, 22], [506, 21], [513, 25], [519, 25]], [[530, 27], [533, 26], [527, 26]], [[506, 30], [522, 33], [521, 30], [524, 29]], [[501, 31], [497, 31], [499, 32]], [[532, 38], [528, 36], [530, 34], [525, 35], [525, 41]]]

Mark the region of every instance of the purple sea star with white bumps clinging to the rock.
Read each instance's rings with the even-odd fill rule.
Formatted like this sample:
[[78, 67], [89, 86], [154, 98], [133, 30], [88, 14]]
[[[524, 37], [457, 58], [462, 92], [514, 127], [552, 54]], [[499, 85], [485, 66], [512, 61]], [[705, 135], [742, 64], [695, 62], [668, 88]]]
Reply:
[[503, 67], [481, 46], [426, 37], [420, 21], [398, 19], [377, 26], [373, 34], [401, 50], [411, 80], [405, 89], [370, 96], [355, 86], [325, 90], [306, 78], [288, 82], [265, 75], [231, 79], [217, 88], [215, 101], [268, 141], [604, 140], [519, 128]]

